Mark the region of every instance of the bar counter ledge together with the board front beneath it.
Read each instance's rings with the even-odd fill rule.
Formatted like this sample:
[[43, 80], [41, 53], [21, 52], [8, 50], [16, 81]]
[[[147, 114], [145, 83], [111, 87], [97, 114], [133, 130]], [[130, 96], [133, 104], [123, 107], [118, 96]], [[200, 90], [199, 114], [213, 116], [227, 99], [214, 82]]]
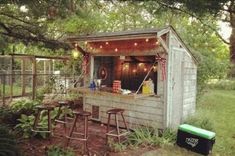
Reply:
[[[107, 123], [107, 110], [125, 109], [124, 117], [133, 129], [139, 125], [163, 128], [163, 99], [157, 95], [128, 94], [122, 95], [90, 88], [73, 88], [71, 92], [83, 94], [83, 109], [92, 112], [92, 119]], [[111, 124], [114, 120], [111, 121]], [[123, 125], [120, 120], [121, 126]]]

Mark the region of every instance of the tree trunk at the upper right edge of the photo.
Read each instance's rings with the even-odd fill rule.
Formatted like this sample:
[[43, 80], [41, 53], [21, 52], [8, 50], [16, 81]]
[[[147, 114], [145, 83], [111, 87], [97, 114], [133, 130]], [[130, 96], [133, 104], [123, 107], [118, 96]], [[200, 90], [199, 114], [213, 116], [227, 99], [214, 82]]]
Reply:
[[232, 34], [230, 36], [230, 62], [232, 65], [230, 75], [235, 77], [235, 14], [230, 14], [230, 24], [232, 27]]

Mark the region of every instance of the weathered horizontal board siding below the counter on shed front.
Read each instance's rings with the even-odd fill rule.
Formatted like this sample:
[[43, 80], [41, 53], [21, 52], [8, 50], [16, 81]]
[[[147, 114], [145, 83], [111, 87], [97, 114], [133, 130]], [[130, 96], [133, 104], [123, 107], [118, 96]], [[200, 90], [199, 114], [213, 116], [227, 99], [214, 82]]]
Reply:
[[[128, 99], [114, 96], [87, 94], [84, 97], [84, 109], [92, 112], [92, 106], [99, 106], [99, 121], [107, 123], [107, 110], [112, 108], [125, 109], [124, 116], [128, 126], [138, 125], [163, 128], [163, 101], [157, 97]], [[120, 125], [123, 126], [119, 117]], [[111, 122], [114, 123], [114, 119]]]

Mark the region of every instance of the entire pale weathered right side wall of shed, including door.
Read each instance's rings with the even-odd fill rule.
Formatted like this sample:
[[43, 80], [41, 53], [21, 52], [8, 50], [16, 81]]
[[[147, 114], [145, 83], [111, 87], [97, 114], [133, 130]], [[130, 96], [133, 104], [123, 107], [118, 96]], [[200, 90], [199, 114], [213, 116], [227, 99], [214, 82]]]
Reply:
[[168, 59], [168, 127], [177, 128], [195, 112], [197, 67], [192, 55], [179, 38], [170, 35]]

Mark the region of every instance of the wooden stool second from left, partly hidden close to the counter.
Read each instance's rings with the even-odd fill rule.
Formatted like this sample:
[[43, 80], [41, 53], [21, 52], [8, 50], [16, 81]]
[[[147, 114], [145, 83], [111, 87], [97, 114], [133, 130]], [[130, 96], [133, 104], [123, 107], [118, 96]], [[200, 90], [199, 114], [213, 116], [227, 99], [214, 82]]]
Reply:
[[66, 112], [64, 113], [64, 116], [63, 116], [62, 119], [60, 118], [60, 115], [62, 113], [62, 108], [69, 109], [70, 104], [69, 104], [68, 101], [58, 101], [57, 105], [59, 107], [59, 110], [58, 110], [58, 113], [57, 113], [57, 115], [55, 117], [55, 123], [56, 124], [57, 123], [63, 124], [64, 125], [64, 132], [66, 134], [67, 133], [67, 123], [68, 123], [68, 121], [67, 121], [67, 113]]

